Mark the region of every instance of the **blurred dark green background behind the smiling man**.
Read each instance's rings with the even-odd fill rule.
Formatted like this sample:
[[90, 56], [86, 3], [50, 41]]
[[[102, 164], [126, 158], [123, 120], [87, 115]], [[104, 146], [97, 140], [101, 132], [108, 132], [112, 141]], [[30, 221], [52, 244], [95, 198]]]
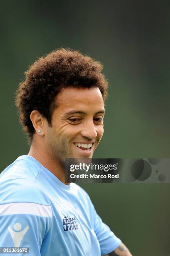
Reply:
[[[14, 94], [24, 71], [58, 47], [99, 60], [109, 80], [105, 133], [94, 156], [169, 158], [169, 1], [2, 1], [2, 171], [28, 153]], [[157, 174], [155, 174], [157, 175]], [[134, 256], [170, 255], [170, 184], [83, 184]]]

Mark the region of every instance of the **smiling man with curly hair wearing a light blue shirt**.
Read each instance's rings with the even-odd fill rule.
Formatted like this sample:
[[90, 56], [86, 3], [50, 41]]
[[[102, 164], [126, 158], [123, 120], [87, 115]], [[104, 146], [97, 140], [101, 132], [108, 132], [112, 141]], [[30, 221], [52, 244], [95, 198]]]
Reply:
[[29, 247], [31, 256], [131, 255], [86, 192], [65, 183], [65, 159], [92, 158], [103, 135], [101, 69], [58, 49], [25, 72], [16, 105], [30, 151], [0, 175], [0, 247]]

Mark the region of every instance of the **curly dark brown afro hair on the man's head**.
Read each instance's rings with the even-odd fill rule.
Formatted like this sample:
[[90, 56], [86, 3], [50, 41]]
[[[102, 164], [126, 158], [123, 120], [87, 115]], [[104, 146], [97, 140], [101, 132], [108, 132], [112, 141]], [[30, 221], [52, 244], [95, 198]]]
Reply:
[[30, 113], [38, 110], [51, 125], [51, 116], [56, 108], [54, 100], [63, 88], [98, 87], [105, 100], [108, 82], [101, 73], [102, 68], [99, 61], [64, 48], [51, 51], [30, 66], [15, 98], [20, 123], [30, 142], [35, 132]]

